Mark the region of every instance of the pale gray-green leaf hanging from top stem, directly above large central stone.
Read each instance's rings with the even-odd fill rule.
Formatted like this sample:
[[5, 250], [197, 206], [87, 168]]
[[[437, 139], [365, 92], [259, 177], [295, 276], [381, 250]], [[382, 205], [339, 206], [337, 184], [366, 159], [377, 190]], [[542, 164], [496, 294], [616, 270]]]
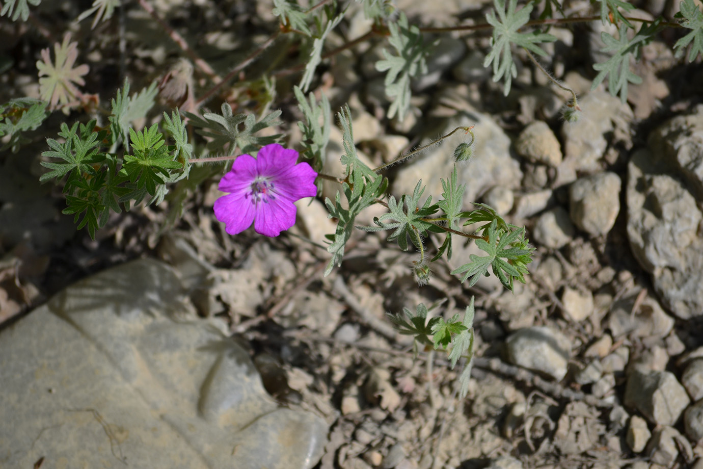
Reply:
[[376, 62], [376, 70], [387, 71], [384, 79], [386, 94], [392, 98], [387, 117], [392, 119], [396, 114], [403, 120], [410, 108], [412, 96], [410, 81], [427, 73], [425, 57], [428, 47], [423, 46], [423, 34], [417, 26], [408, 27], [408, 18], [401, 13], [397, 23], [389, 23], [389, 43], [396, 50], [397, 56], [392, 56], [383, 49], [384, 60]]

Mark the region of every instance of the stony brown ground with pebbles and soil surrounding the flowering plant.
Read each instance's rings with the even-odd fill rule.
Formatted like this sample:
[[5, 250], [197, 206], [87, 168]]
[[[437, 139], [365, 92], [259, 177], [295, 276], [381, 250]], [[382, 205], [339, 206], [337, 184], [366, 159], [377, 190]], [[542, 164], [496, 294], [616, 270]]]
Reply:
[[[209, 31], [203, 41], [210, 49], [194, 44], [211, 51], [217, 44], [220, 55], [210, 59], [231, 65], [227, 53], [246, 41], [216, 27], [208, 2], [172, 3], [159, 8], [174, 27]], [[660, 3], [647, 2], [639, 14], [669, 15]], [[482, 21], [486, 8], [458, 0], [444, 2], [441, 11], [430, 2], [397, 4], [411, 21], [435, 26]], [[230, 11], [230, 26], [272, 21], [264, 1], [255, 10], [241, 2], [231, 8], [240, 15]], [[39, 20], [46, 23], [49, 13]], [[148, 48], [155, 29], [136, 26], [146, 21], [137, 8], [127, 18], [134, 44], [129, 75], [150, 79], [176, 54], [174, 46], [160, 40], [167, 45]], [[361, 13], [352, 18], [347, 38], [366, 31]], [[493, 277], [467, 289], [449, 275], [476, 252], [472, 245], [457, 249], [451, 265], [434, 266], [430, 284], [418, 288], [409, 269], [413, 253], [371, 233], [356, 233], [342, 268], [323, 277], [327, 253], [298, 237], [323, 243], [333, 231], [319, 198], [299, 203], [290, 235], [270, 240], [250, 230], [231, 237], [212, 213], [217, 177], [191, 191], [174, 229], [161, 229], [167, 205], [138, 207], [111, 219], [93, 241], [60, 214], [60, 190], [39, 185], [32, 155], [45, 144], [37, 135], [22, 153], [0, 155], [0, 321], [23, 321], [60, 288], [108, 266], [160, 258], [190, 282], [195, 311], [223, 319], [245, 344], [273, 397], [328, 423], [316, 467], [702, 468], [703, 69], [699, 60], [684, 65], [673, 58], [665, 36], [645, 46], [633, 65], [643, 83], [630, 86], [626, 103], [602, 86], [590, 91], [595, 74], [583, 64], [600, 60], [602, 28], [595, 22], [550, 30], [560, 40], [548, 46], [547, 65], [579, 93], [583, 114], [575, 123], [561, 120], [565, 96], [526, 58], [504, 97], [481, 66], [488, 41], [481, 34], [438, 36], [431, 72], [413, 84], [411, 115], [403, 122], [383, 117], [383, 77], [373, 68], [382, 42], [344, 51], [321, 75], [333, 109], [349, 103], [356, 144], [377, 164], [444, 131], [475, 125], [475, 158], [459, 175], [467, 184], [465, 208], [475, 201], [495, 207], [527, 226], [536, 246], [527, 283], [515, 293]], [[2, 34], [21, 29], [3, 23]], [[36, 82], [32, 54], [45, 46], [25, 34], [30, 39], [4, 44], [17, 65], [3, 82], [18, 93]], [[84, 34], [86, 44], [104, 51], [91, 59], [86, 89], [105, 98], [115, 85], [114, 51]], [[344, 41], [329, 40], [330, 47]], [[294, 100], [284, 94], [289, 79], [280, 77], [278, 86], [291, 122], [282, 130], [295, 147]], [[50, 124], [59, 121], [53, 116]], [[425, 194], [436, 198], [456, 143], [393, 167], [392, 192], [412, 191], [422, 178]], [[325, 172], [340, 170], [342, 153], [333, 129]], [[323, 196], [336, 190], [325, 182]], [[446, 300], [441, 311], [451, 316], [471, 295], [477, 358], [469, 395], [458, 401], [456, 371], [445, 357], [413, 359], [385, 312]]]

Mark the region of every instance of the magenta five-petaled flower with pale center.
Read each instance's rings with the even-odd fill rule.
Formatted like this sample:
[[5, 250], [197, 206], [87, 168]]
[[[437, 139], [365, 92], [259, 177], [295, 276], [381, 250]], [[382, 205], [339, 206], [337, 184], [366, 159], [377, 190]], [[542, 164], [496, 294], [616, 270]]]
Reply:
[[219, 190], [229, 192], [215, 201], [215, 217], [231, 235], [241, 233], [254, 222], [254, 231], [278, 236], [295, 224], [295, 205], [317, 193], [317, 173], [307, 163], [299, 163], [298, 152], [271, 143], [259, 150], [257, 158], [240, 155], [230, 172], [219, 182]]

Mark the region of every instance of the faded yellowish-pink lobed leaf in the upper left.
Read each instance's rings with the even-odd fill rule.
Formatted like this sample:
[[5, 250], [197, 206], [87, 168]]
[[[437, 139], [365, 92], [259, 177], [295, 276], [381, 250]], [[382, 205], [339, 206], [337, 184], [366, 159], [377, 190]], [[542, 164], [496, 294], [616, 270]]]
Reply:
[[[71, 42], [71, 34], [66, 33], [63, 37], [63, 43], [58, 44], [57, 42], [53, 46], [55, 63], [51, 62], [49, 48], [41, 50], [43, 60], [37, 60], [39, 94], [41, 99], [49, 101], [50, 108], [63, 107], [81, 94], [75, 84], [85, 84], [82, 77], [88, 73], [90, 68], [88, 65], [79, 65], [73, 68], [78, 58], [77, 46], [77, 42]], [[59, 104], [60, 106], [58, 106]]]

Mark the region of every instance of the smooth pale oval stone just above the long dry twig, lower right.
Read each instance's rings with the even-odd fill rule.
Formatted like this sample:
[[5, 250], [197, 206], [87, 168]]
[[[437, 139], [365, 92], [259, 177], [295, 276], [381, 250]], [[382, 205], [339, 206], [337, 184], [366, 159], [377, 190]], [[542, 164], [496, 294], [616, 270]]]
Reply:
[[560, 381], [567, 374], [569, 339], [557, 330], [534, 326], [517, 330], [506, 341], [510, 363], [539, 371]]

